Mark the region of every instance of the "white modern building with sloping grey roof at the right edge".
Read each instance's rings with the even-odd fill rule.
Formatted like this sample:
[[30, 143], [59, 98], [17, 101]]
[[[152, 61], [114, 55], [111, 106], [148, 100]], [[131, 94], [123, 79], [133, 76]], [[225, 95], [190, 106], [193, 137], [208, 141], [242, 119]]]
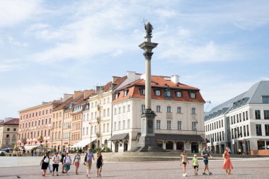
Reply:
[[214, 153], [229, 146], [246, 154], [269, 149], [269, 81], [260, 81], [248, 91], [213, 108], [205, 116], [207, 145]]

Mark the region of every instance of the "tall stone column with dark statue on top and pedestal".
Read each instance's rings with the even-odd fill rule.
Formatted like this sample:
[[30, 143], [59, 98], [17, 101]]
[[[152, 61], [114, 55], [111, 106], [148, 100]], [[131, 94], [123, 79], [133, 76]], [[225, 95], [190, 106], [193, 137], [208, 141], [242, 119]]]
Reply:
[[145, 30], [147, 35], [144, 37], [147, 39], [146, 42], [142, 42], [139, 45], [142, 50], [144, 50], [144, 57], [146, 62], [145, 67], [145, 110], [141, 115], [141, 137], [139, 138], [140, 151], [157, 151], [158, 146], [156, 144], [156, 137], [154, 132], [154, 119], [155, 112], [151, 110], [151, 57], [152, 50], [158, 45], [157, 43], [151, 42], [151, 33], [152, 33], [152, 25], [147, 23], [145, 25]]

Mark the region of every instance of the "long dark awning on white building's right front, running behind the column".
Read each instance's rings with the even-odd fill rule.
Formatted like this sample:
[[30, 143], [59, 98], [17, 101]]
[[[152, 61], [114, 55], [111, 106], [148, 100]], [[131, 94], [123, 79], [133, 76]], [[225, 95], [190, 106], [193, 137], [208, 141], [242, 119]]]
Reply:
[[[141, 136], [141, 133], [137, 133], [137, 139]], [[159, 140], [176, 140], [176, 141], [199, 141], [203, 142], [204, 139], [200, 135], [191, 134], [155, 134], [156, 139]]]

